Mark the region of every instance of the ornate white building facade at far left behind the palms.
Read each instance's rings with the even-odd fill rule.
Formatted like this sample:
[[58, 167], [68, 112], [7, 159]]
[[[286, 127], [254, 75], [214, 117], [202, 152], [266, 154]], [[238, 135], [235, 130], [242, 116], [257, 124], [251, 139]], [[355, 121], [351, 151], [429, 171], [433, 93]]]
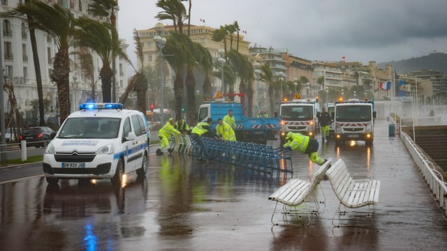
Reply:
[[[24, 3], [20, 0], [1, 1], [0, 11], [13, 10], [18, 4]], [[70, 8], [75, 15], [89, 15], [87, 9], [89, 1], [87, 0], [71, 0], [71, 1], [47, 1], [47, 3], [59, 3], [61, 6]], [[32, 103], [37, 100], [37, 84], [36, 72], [34, 70], [34, 60], [31, 51], [31, 42], [29, 38], [29, 29], [27, 22], [17, 18], [1, 18], [1, 57], [3, 65], [3, 75], [5, 82], [12, 84], [17, 106], [20, 114], [27, 124], [33, 126], [37, 124], [36, 114], [38, 112], [33, 109]], [[38, 48], [39, 63], [41, 66], [42, 89], [43, 98], [49, 102], [50, 109], [45, 110], [46, 121], [52, 123], [61, 123], [58, 118], [59, 103], [57, 98], [57, 86], [51, 81], [50, 75], [53, 69], [54, 55], [57, 53], [57, 44], [48, 36], [47, 33], [36, 30], [36, 40]], [[127, 46], [123, 43], [123, 49]], [[91, 54], [93, 57], [94, 77], [87, 78], [85, 73], [82, 73], [80, 56], [77, 52], [85, 52]], [[71, 47], [70, 48], [70, 104], [71, 112], [77, 109], [81, 102], [102, 101], [101, 80], [98, 80], [99, 70], [102, 68], [102, 61], [91, 50], [87, 48]], [[127, 86], [127, 70], [126, 62], [117, 58], [116, 66], [117, 75], [117, 97], [124, 93]], [[94, 89], [94, 100], [91, 100]], [[4, 102], [2, 107], [8, 114], [10, 110], [10, 100], [8, 95], [3, 93]], [[118, 98], [117, 98], [118, 100]]]

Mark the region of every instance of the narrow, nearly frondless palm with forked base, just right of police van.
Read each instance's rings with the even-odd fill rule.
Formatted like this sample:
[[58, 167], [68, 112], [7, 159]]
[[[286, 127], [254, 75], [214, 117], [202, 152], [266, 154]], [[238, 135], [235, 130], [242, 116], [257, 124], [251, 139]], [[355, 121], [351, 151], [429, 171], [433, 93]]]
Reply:
[[142, 54], [142, 43], [140, 41], [140, 36], [138, 35], [138, 32], [136, 29], [133, 29], [133, 40], [135, 42], [135, 52], [138, 56], [138, 60], [141, 62], [141, 68], [140, 70], [136, 70], [135, 67], [131, 64], [133, 67], [133, 70], [135, 70], [135, 75], [131, 77], [131, 80], [129, 81], [129, 84], [126, 87], [126, 91], [124, 91], [124, 94], [119, 99], [119, 102], [124, 103], [126, 102], [127, 97], [129, 96], [129, 93], [131, 91], [135, 91], [137, 94], [137, 109], [138, 111], [142, 112], [143, 114], [146, 114], [147, 107], [146, 107], [146, 93], [147, 93], [147, 79], [145, 77], [145, 74], [143, 73], [143, 60], [144, 56]]

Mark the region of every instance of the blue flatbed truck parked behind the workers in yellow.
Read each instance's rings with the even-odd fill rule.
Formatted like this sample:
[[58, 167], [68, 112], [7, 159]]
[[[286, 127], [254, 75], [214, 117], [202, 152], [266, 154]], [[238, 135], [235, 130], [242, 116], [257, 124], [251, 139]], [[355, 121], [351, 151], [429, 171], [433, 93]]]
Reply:
[[241, 96], [241, 102], [216, 98], [200, 105], [197, 116], [198, 122], [205, 122], [208, 118], [212, 118], [212, 129], [215, 130], [217, 119], [223, 119], [228, 114], [228, 110], [233, 109], [237, 141], [266, 144], [268, 140], [277, 139], [279, 129], [281, 129], [280, 118], [248, 118], [245, 115], [244, 96], [242, 94], [239, 94], [239, 96]]

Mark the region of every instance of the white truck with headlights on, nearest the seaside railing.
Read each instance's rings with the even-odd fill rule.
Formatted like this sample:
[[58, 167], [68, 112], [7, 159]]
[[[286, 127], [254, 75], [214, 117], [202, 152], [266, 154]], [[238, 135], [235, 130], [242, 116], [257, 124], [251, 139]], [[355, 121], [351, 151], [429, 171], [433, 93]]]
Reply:
[[346, 140], [362, 140], [371, 146], [374, 140], [374, 101], [335, 102], [335, 145]]

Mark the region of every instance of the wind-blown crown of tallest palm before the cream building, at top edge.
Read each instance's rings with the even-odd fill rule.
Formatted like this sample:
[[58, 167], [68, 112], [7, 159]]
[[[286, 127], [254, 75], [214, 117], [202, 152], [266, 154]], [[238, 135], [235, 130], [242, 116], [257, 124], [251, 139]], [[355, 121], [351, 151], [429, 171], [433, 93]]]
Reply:
[[155, 18], [173, 21], [175, 32], [183, 33], [183, 23], [188, 18], [183, 3], [179, 0], [159, 0], [156, 2], [156, 6], [164, 11], [159, 12]]

